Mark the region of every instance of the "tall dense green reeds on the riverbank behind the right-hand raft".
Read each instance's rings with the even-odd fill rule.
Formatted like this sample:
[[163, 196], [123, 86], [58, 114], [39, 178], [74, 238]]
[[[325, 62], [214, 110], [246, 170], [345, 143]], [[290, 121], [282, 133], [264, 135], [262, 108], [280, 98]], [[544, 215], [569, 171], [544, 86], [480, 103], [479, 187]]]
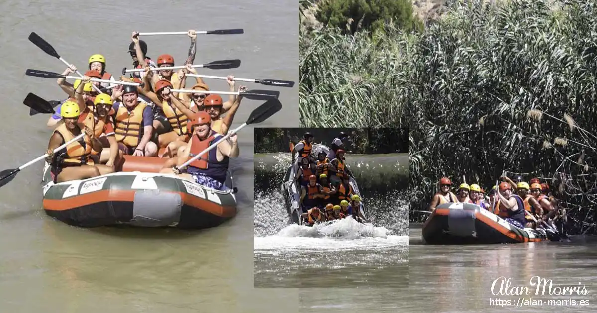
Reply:
[[[547, 180], [570, 230], [596, 233], [597, 0], [454, 1], [420, 34], [389, 29], [374, 42], [322, 30], [301, 41], [307, 124], [367, 110], [370, 123], [408, 122], [411, 210], [426, 209], [440, 176], [487, 189], [507, 171]], [[379, 75], [348, 91], [358, 69]]]

